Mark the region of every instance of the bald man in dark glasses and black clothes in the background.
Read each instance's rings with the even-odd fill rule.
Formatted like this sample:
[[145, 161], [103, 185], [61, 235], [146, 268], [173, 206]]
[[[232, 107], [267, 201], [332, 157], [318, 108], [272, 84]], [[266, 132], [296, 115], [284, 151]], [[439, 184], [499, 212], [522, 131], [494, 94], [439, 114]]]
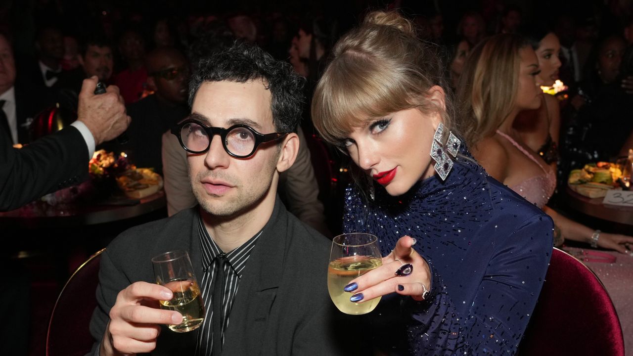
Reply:
[[[186, 104], [189, 66], [177, 49], [163, 47], [147, 54], [147, 70], [147, 84], [154, 94], [128, 105], [127, 112], [132, 117], [128, 143], [116, 151], [128, 153], [137, 167], [152, 167], [161, 174], [161, 136], [189, 115]], [[178, 150], [183, 151], [180, 144]]]

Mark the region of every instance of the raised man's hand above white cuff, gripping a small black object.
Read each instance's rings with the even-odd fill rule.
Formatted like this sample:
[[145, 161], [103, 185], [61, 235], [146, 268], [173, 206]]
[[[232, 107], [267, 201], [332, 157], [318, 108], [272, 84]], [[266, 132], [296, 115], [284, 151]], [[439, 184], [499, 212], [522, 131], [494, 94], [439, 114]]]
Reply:
[[96, 76], [84, 79], [77, 108], [77, 120], [88, 127], [96, 144], [122, 134], [131, 120], [125, 113], [125, 102], [118, 87], [109, 86], [104, 94], [94, 94], [98, 80]]

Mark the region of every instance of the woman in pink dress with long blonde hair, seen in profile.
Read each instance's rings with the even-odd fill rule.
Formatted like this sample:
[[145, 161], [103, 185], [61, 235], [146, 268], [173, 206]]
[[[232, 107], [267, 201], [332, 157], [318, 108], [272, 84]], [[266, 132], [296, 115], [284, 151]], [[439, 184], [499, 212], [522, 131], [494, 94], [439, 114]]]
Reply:
[[547, 207], [556, 187], [555, 172], [513, 128], [520, 111], [541, 105], [539, 73], [536, 53], [522, 37], [496, 35], [477, 46], [458, 90], [465, 141], [488, 174], [548, 213], [556, 226], [555, 239], [629, 253], [627, 244], [633, 244], [633, 238], [594, 231]]

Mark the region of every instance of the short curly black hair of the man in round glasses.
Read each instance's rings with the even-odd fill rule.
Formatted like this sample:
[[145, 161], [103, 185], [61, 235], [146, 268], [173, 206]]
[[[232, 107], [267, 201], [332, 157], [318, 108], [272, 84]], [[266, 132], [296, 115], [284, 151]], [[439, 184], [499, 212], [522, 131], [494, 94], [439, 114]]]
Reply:
[[304, 79], [285, 61], [275, 60], [263, 49], [235, 41], [224, 51], [202, 58], [189, 82], [189, 106], [203, 82], [245, 83], [263, 79], [272, 96], [273, 124], [277, 132], [296, 132], [303, 111]]

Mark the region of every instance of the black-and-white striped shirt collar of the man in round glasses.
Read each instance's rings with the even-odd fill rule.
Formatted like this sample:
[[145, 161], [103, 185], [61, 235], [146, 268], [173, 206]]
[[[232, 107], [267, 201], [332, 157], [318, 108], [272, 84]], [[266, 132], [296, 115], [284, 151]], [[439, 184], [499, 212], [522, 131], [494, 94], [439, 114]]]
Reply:
[[[213, 238], [209, 235], [206, 227], [204, 227], [202, 215], [200, 215], [198, 219], [198, 230], [200, 232], [200, 245], [202, 250], [202, 267], [203, 270], [206, 271], [209, 267], [213, 266], [213, 260], [215, 260], [215, 258], [223, 252], [220, 246], [213, 241]], [[263, 229], [257, 232], [241, 246], [225, 253], [229, 265], [235, 270], [237, 276], [240, 278], [242, 277], [244, 267], [246, 267], [246, 260], [248, 260], [251, 255], [251, 251], [253, 250], [257, 239], [261, 236], [261, 232], [263, 232]]]

